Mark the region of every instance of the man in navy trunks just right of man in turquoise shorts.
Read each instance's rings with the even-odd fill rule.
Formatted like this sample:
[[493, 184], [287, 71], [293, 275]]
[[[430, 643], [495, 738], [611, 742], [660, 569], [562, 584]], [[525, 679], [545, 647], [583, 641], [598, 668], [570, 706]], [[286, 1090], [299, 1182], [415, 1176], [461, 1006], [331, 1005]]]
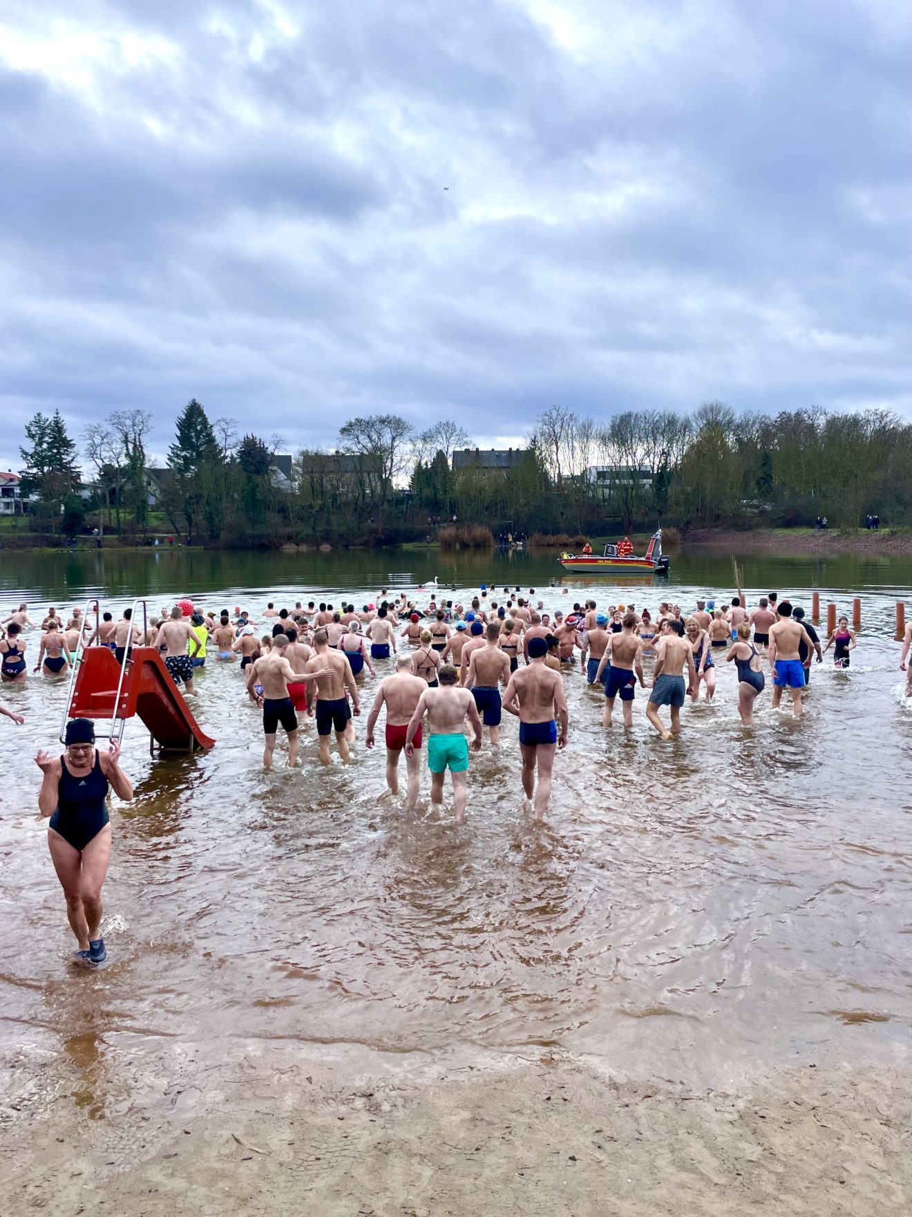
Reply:
[[[503, 708], [519, 718], [519, 751], [523, 756], [523, 790], [535, 795], [535, 819], [541, 820], [551, 798], [551, 773], [554, 752], [567, 747], [568, 711], [564, 682], [559, 672], [545, 663], [548, 644], [544, 638], [529, 643], [529, 661], [510, 678]], [[557, 722], [561, 723], [558, 735]], [[535, 790], [535, 769], [539, 789]]]

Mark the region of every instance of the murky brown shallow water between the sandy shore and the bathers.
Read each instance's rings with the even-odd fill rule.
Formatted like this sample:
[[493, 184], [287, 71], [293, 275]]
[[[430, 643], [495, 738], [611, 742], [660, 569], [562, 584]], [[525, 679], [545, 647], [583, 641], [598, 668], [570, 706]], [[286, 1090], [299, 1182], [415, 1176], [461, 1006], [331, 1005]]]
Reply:
[[[703, 587], [674, 590], [691, 605]], [[567, 602], [559, 589], [544, 599]], [[557, 1045], [671, 1078], [902, 1053], [912, 707], [895, 599], [866, 590], [851, 672], [815, 667], [800, 723], [773, 714], [767, 691], [744, 729], [725, 669], [715, 703], [683, 711], [680, 741], [648, 729], [641, 692], [634, 730], [603, 733], [602, 700], [568, 677], [570, 744], [542, 828], [523, 808], [514, 723], [473, 759], [457, 830], [446, 804], [429, 806], [427, 774], [416, 811], [384, 796], [382, 750], [359, 742], [349, 767], [321, 769], [313, 727], [300, 769], [280, 756], [265, 773], [240, 668], [209, 660], [193, 707], [218, 739], [209, 755], [151, 761], [141, 725], [128, 728], [136, 800], [112, 814], [109, 964], [94, 974], [67, 963], [36, 818], [32, 757], [56, 746], [66, 686], [5, 688], [28, 717], [0, 719], [7, 1115], [173, 1101], [143, 1076], [163, 1045], [186, 1076], [238, 1042], [275, 1041], [418, 1062]], [[265, 606], [259, 590], [210, 598], [238, 600]]]

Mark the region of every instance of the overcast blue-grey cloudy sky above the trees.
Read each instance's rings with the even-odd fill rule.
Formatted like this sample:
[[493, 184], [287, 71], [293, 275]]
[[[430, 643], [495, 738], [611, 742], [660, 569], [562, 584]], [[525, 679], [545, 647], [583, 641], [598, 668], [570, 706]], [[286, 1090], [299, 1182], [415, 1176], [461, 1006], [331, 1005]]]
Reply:
[[910, 110], [907, 0], [6, 0], [0, 469], [192, 396], [908, 416]]

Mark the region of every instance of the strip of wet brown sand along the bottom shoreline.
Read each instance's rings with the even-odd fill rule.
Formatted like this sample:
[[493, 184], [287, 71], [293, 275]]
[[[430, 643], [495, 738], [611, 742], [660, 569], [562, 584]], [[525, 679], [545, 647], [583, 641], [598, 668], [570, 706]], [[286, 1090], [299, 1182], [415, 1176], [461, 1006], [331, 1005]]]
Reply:
[[743, 1090], [696, 1090], [542, 1054], [340, 1087], [339, 1066], [244, 1054], [186, 1103], [165, 1083], [169, 1116], [18, 1126], [5, 1137], [4, 1211], [908, 1212], [908, 1073], [807, 1065]]

